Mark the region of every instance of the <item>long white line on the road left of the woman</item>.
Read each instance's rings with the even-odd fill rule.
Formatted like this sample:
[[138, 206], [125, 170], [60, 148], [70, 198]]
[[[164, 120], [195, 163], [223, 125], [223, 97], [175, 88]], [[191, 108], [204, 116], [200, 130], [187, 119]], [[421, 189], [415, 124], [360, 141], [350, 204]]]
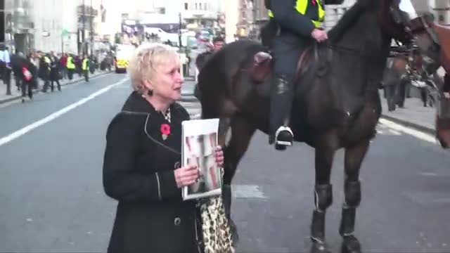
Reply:
[[16, 138], [19, 138], [20, 136], [23, 136], [24, 134], [27, 134], [29, 131], [36, 129], [39, 126], [42, 126], [43, 124], [51, 122], [53, 119], [56, 119], [56, 118], [60, 117], [61, 115], [64, 115], [65, 113], [70, 112], [71, 110], [79, 107], [79, 105], [82, 105], [82, 104], [88, 102], [89, 100], [96, 98], [96, 96], [100, 96], [101, 94], [105, 93], [106, 91], [109, 91], [113, 87], [123, 84], [124, 82], [127, 82], [127, 80], [128, 80], [128, 78], [125, 78], [115, 84], [110, 84], [109, 86], [106, 86], [105, 88], [98, 90], [95, 93], [92, 93], [91, 95], [87, 96], [86, 98], [82, 98], [81, 100], [78, 100], [78, 102], [72, 103], [72, 105], [68, 105], [63, 109], [58, 110], [57, 112], [53, 112], [51, 115], [44, 117], [44, 119], [40, 119], [37, 122], [34, 122], [28, 126], [23, 127], [23, 129], [20, 129], [18, 131], [13, 132], [12, 134], [8, 134], [7, 136], [0, 138], [0, 146], [4, 145], [10, 141], [15, 140]]

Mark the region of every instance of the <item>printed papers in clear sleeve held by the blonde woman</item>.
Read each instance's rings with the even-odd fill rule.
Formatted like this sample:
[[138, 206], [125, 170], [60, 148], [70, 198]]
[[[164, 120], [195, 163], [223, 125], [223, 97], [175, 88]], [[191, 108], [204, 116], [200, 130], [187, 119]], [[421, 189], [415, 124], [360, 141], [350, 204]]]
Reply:
[[200, 171], [198, 181], [184, 186], [183, 200], [221, 195], [222, 174], [215, 159], [219, 119], [184, 121], [182, 131], [183, 166], [195, 165]]

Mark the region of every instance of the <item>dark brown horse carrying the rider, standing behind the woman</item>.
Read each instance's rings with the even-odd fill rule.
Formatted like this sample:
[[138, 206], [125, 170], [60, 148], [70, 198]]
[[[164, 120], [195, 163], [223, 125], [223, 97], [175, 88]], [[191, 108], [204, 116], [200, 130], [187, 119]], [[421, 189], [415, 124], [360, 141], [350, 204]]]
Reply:
[[[342, 252], [361, 252], [354, 235], [356, 207], [361, 201], [359, 170], [381, 114], [378, 86], [391, 40], [406, 43], [411, 39], [406, 23], [394, 18], [398, 16], [397, 0], [358, 0], [328, 32], [328, 42], [314, 44], [300, 60], [290, 126], [296, 142], [315, 149], [311, 252], [328, 252], [325, 218], [333, 202], [330, 171], [340, 148], [345, 148], [345, 202], [339, 228]], [[231, 181], [255, 131], [269, 134], [270, 65], [264, 46], [240, 40], [214, 53], [198, 75], [202, 118], [220, 119], [224, 205], [236, 235], [230, 214]]]

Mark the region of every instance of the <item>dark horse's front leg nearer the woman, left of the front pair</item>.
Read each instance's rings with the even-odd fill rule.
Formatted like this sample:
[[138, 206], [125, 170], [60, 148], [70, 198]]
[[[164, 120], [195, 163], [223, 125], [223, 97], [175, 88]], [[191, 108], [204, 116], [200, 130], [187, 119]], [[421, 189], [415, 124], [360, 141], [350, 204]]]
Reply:
[[325, 242], [326, 209], [333, 202], [330, 184], [331, 167], [335, 148], [316, 147], [316, 186], [314, 187], [314, 211], [311, 221], [311, 252], [329, 252]]

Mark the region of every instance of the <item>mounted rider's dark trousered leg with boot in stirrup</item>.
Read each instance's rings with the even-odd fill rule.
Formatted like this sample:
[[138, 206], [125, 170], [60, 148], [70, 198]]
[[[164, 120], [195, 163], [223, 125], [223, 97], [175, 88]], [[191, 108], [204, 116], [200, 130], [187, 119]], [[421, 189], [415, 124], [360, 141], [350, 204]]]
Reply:
[[272, 41], [274, 74], [271, 78], [269, 143], [275, 142], [277, 149], [293, 144], [288, 120], [293, 103], [293, 79], [303, 48], [300, 45], [300, 40], [295, 37], [276, 37]]

